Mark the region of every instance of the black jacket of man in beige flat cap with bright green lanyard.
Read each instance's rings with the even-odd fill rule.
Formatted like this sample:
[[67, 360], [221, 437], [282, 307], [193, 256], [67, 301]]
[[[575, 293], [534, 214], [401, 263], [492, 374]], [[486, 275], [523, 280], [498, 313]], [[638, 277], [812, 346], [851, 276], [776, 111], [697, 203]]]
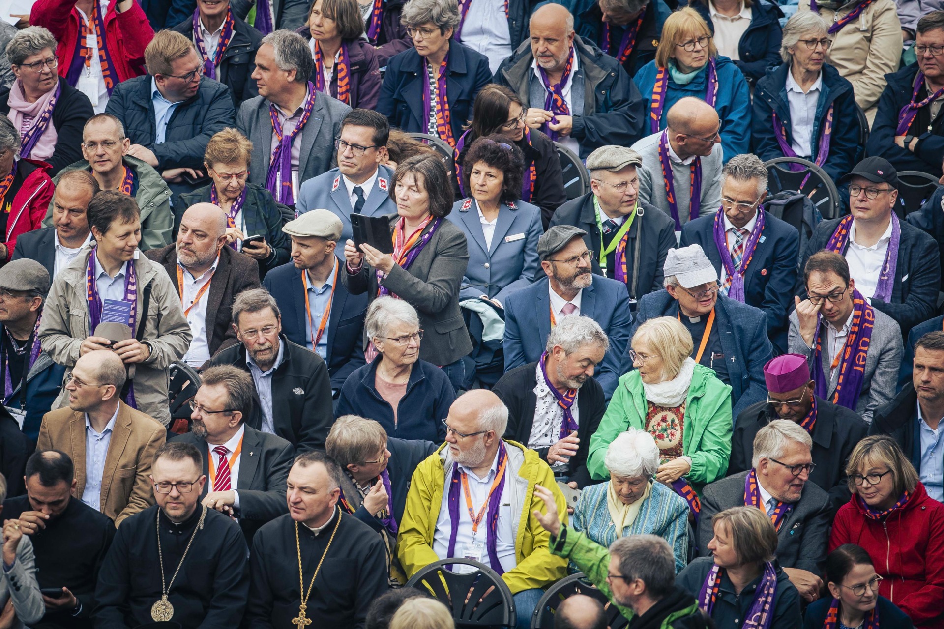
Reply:
[[[548, 226], [580, 227], [586, 232], [583, 241], [587, 249], [594, 252], [593, 272], [613, 278], [615, 277], [613, 273], [615, 251], [607, 256], [607, 273], [603, 273], [599, 266], [599, 253], [603, 250], [603, 245], [597, 226], [597, 210], [594, 208], [593, 197], [593, 192], [588, 192], [558, 207]], [[638, 252], [636, 252], [637, 245]], [[658, 207], [640, 202], [636, 218], [630, 226], [629, 241], [626, 243], [626, 274], [630, 280], [627, 289], [630, 291], [631, 304], [643, 295], [663, 288], [662, 267], [666, 264], [668, 250], [675, 247], [675, 223], [672, 219]], [[637, 253], [638, 270], [635, 265]], [[632, 278], [636, 271], [638, 271], [638, 276], [635, 277], [635, 283], [633, 283]]]

